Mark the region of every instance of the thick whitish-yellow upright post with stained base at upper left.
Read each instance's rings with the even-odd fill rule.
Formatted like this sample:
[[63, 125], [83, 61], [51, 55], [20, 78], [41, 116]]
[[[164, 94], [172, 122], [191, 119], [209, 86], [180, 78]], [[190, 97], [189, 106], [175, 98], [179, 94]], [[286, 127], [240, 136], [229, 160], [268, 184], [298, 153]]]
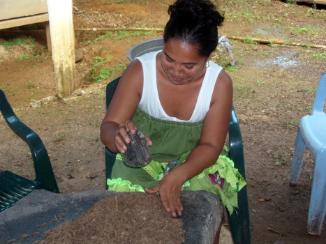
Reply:
[[72, 0], [47, 0], [52, 59], [57, 96], [66, 98], [76, 89], [75, 36]]

